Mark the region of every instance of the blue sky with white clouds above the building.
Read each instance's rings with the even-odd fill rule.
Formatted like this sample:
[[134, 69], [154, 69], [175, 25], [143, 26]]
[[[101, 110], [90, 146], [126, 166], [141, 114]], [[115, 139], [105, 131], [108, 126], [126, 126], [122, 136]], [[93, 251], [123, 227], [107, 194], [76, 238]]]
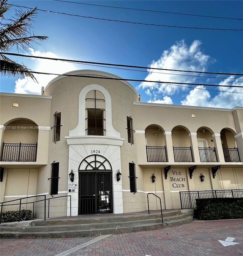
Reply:
[[[38, 9], [46, 10], [38, 10], [32, 26], [35, 35], [46, 35], [49, 38], [39, 44], [33, 43], [29, 52], [20, 52], [21, 54], [174, 70], [243, 74], [243, 31], [152, 26], [67, 15], [167, 26], [243, 29], [242, 20], [201, 17], [243, 19], [243, 1], [8, 0], [8, 3], [25, 6], [21, 8], [12, 6], [9, 11], [11, 15], [14, 15], [14, 9], [28, 10], [27, 7], [37, 6]], [[58, 12], [66, 14], [58, 14]], [[10, 52], [17, 53], [17, 50], [13, 48]], [[243, 76], [156, 71], [149, 68], [134, 71], [18, 56], [8, 55], [8, 57], [24, 63], [29, 69], [37, 72], [63, 74], [71, 70], [95, 69], [126, 79], [216, 85], [213, 87], [183, 85], [182, 87], [156, 82], [130, 82], [141, 94], [142, 102], [225, 108], [243, 106]], [[1, 92], [40, 94], [41, 86], [46, 86], [54, 77], [36, 75], [39, 81], [37, 84], [27, 78], [1, 75]], [[242, 86], [242, 88], [217, 85]]]

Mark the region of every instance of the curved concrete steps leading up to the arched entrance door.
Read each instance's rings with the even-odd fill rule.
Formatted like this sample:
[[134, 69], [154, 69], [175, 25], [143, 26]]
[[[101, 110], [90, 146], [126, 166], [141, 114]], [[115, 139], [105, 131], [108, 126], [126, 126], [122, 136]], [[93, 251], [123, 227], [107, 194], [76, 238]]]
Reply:
[[8, 222], [0, 225], [1, 238], [92, 237], [173, 227], [193, 221], [181, 210], [161, 213], [95, 214]]

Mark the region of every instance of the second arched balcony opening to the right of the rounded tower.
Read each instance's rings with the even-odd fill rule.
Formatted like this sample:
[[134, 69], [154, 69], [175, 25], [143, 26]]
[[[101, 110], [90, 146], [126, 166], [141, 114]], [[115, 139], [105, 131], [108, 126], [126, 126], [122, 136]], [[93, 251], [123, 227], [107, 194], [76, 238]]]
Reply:
[[194, 162], [189, 133], [184, 126], [175, 126], [172, 129], [175, 162]]

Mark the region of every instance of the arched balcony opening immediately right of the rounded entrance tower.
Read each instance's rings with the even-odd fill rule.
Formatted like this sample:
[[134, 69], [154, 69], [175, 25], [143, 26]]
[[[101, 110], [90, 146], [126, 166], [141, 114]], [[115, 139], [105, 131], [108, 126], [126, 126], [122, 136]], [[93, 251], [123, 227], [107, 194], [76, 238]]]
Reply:
[[149, 125], [145, 129], [147, 162], [167, 162], [164, 130], [159, 125]]

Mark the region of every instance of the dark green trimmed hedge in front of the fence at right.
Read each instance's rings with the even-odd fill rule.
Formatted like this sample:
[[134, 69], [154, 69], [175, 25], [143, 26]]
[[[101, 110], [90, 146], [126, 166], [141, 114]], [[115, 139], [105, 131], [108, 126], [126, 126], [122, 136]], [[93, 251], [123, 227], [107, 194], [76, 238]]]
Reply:
[[201, 198], [196, 207], [194, 216], [200, 220], [243, 218], [243, 198]]

